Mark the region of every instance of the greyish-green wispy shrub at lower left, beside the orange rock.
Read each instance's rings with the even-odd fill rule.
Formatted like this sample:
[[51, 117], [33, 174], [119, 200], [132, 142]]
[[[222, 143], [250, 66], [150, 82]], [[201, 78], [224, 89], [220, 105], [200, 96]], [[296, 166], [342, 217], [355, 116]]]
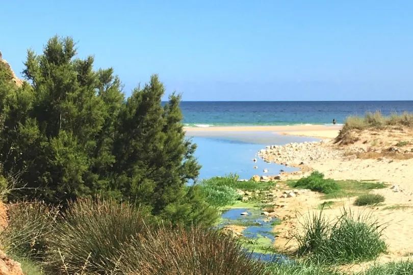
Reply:
[[54, 231], [58, 209], [43, 202], [21, 202], [8, 207], [9, 226], [0, 234], [6, 253], [40, 260]]

